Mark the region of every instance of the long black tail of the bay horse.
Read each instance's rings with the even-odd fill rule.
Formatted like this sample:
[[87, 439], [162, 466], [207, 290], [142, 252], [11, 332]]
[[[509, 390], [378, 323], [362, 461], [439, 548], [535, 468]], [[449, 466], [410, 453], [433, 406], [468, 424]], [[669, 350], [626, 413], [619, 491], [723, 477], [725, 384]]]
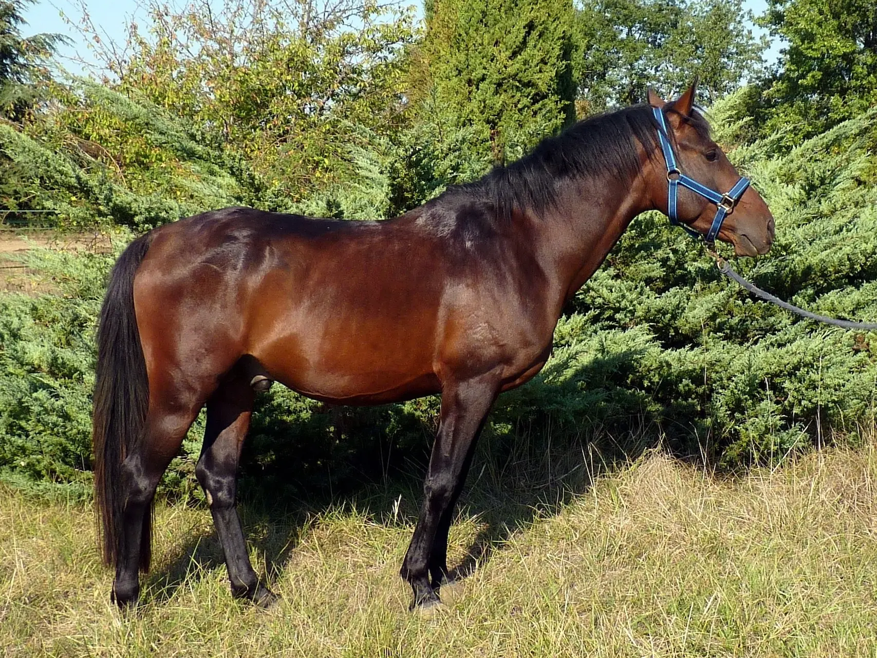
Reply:
[[[140, 440], [149, 404], [146, 361], [134, 315], [134, 274], [152, 236], [134, 240], [112, 269], [97, 326], [97, 368], [92, 424], [95, 501], [103, 560], [118, 561], [118, 540], [125, 509], [122, 462]], [[140, 569], [149, 568], [152, 511], [143, 522]]]

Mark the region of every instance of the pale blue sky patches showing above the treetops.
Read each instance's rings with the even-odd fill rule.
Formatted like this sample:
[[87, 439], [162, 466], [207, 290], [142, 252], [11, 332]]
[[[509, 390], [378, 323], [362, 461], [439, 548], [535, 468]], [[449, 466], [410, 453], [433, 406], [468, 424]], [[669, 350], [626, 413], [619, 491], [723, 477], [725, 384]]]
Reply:
[[[107, 37], [118, 43], [125, 41], [124, 26], [127, 19], [135, 18], [144, 22], [146, 18], [146, 11], [138, 0], [84, 0], [84, 2], [94, 25]], [[758, 16], [765, 11], [766, 3], [765, 0], [745, 0], [744, 6]], [[23, 32], [25, 35], [35, 32], [65, 34], [70, 39], [71, 44], [70, 46], [62, 46], [60, 54], [64, 57], [78, 57], [93, 63], [95, 61], [93, 52], [83, 42], [79, 33], [61, 18], [61, 12], [73, 21], [78, 21], [81, 15], [81, 12], [70, 0], [38, 0], [25, 11], [28, 25], [25, 26]], [[756, 33], [761, 32], [756, 28]], [[767, 61], [775, 61], [779, 54], [779, 48], [779, 44], [774, 41], [766, 54]], [[65, 66], [72, 73], [82, 74], [82, 66], [75, 61], [67, 61]]]

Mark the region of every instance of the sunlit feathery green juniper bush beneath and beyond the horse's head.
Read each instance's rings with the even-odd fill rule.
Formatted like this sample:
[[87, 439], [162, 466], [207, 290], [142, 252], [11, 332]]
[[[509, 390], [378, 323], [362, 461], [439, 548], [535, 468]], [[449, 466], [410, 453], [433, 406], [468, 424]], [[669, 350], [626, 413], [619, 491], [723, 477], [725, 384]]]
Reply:
[[[776, 218], [771, 254], [738, 261], [742, 274], [812, 311], [877, 318], [875, 146], [870, 111], [785, 155], [773, 139], [734, 150]], [[873, 424], [871, 334], [753, 301], [657, 213], [631, 225], [574, 310], [568, 321], [584, 329], [568, 333], [569, 348], [588, 336], [612, 354], [638, 354], [611, 381], [644, 393], [652, 421], [685, 453], [761, 461]]]

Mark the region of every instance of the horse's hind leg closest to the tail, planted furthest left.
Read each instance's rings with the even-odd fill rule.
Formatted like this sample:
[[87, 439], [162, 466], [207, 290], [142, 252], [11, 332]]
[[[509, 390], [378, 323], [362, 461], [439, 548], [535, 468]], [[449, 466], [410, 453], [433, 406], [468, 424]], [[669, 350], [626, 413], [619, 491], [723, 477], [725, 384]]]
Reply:
[[143, 439], [122, 463], [125, 508], [112, 587], [112, 599], [120, 607], [137, 601], [138, 572], [149, 569], [155, 489], [202, 404], [194, 399], [185, 402], [189, 397], [176, 397], [172, 401], [166, 397], [167, 404], [160, 400], [150, 404]]

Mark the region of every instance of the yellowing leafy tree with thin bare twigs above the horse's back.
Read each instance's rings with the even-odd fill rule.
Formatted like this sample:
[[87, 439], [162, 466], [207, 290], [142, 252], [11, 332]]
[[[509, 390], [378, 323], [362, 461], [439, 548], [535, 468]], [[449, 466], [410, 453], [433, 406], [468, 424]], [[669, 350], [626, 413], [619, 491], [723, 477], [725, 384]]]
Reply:
[[173, 11], [155, 0], [149, 12], [146, 32], [129, 25], [126, 52], [98, 44], [105, 82], [251, 161], [270, 206], [336, 180], [354, 125], [386, 134], [403, 122], [409, 11], [360, 0], [200, 0]]

